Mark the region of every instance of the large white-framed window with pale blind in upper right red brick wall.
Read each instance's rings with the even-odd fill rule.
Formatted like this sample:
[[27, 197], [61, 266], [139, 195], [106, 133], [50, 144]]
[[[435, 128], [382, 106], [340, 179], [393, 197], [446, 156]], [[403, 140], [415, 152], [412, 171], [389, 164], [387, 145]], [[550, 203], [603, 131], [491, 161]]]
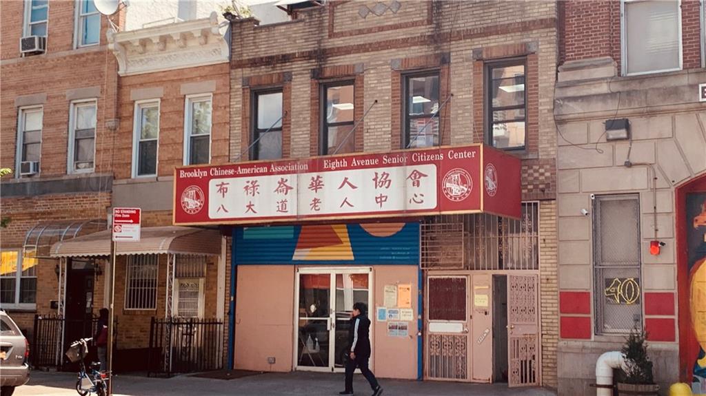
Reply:
[[621, 2], [623, 75], [681, 69], [680, 2]]

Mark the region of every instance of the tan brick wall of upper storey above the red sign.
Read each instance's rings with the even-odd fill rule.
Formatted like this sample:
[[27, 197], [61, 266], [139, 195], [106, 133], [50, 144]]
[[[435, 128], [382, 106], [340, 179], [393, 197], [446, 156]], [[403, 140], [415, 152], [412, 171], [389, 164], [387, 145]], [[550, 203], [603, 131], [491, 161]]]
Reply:
[[[485, 60], [526, 56], [528, 145], [522, 158], [522, 198], [542, 200], [542, 376], [556, 386], [558, 310], [556, 292], [556, 128], [554, 81], [558, 56], [554, 1], [403, 1], [400, 8], [371, 11], [375, 1], [335, 2], [299, 13], [298, 19], [256, 26], [232, 24], [231, 161], [251, 141], [249, 89], [252, 80], [291, 75], [288, 157], [320, 149], [319, 84], [338, 70], [356, 79], [357, 151], [390, 151], [402, 144], [402, 75], [439, 70], [444, 144], [482, 142]], [[366, 12], [367, 10], [367, 12]], [[515, 49], [522, 51], [513, 51]], [[476, 53], [484, 54], [477, 58]], [[353, 70], [349, 70], [349, 69]], [[357, 71], [360, 70], [360, 71]], [[361, 89], [358, 78], [364, 78]], [[362, 97], [359, 92], [362, 91]], [[376, 103], [377, 101], [377, 103]], [[361, 133], [361, 135], [359, 135]], [[362, 144], [361, 144], [362, 143]], [[229, 240], [229, 252], [230, 254]], [[228, 257], [228, 264], [230, 257]], [[227, 271], [229, 285], [230, 271]], [[227, 304], [227, 301], [225, 302]], [[546, 310], [546, 311], [545, 311]], [[226, 339], [227, 340], [227, 339]]]

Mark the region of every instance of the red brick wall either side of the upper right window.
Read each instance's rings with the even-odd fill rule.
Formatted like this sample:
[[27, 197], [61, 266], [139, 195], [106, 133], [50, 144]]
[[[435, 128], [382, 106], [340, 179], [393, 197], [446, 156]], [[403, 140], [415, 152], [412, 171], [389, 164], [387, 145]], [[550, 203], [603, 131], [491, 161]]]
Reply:
[[[561, 63], [610, 56], [621, 70], [621, 6], [618, 0], [562, 1]], [[561, 8], [560, 8], [561, 9]], [[683, 68], [700, 68], [699, 0], [681, 1]]]

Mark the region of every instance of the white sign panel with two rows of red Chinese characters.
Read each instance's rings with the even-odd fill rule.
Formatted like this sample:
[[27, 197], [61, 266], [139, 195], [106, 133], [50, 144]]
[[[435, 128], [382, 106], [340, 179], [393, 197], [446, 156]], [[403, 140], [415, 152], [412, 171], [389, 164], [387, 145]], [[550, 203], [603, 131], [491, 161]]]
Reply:
[[219, 178], [209, 182], [208, 216], [277, 218], [434, 209], [436, 179], [433, 164]]

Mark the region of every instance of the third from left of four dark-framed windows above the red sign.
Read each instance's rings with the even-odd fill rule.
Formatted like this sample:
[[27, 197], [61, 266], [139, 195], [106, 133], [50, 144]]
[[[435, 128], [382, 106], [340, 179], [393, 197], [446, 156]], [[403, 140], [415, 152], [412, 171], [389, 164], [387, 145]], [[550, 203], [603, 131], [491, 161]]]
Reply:
[[438, 72], [405, 76], [405, 147], [439, 145]]

